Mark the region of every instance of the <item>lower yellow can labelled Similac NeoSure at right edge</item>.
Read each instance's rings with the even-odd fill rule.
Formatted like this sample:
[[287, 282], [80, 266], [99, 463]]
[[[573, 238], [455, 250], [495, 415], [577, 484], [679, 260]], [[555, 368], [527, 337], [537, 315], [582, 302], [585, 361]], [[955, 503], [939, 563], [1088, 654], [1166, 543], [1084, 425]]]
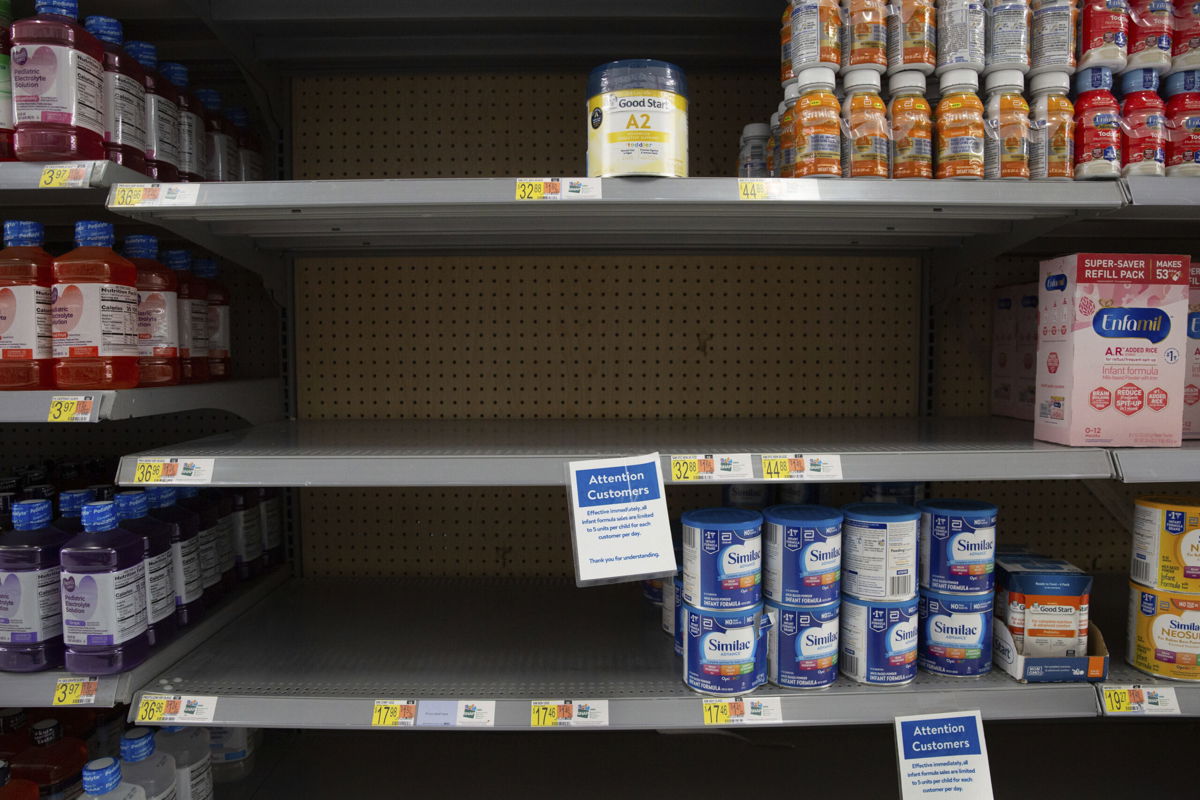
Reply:
[[1200, 595], [1130, 581], [1126, 661], [1158, 678], [1200, 680]]

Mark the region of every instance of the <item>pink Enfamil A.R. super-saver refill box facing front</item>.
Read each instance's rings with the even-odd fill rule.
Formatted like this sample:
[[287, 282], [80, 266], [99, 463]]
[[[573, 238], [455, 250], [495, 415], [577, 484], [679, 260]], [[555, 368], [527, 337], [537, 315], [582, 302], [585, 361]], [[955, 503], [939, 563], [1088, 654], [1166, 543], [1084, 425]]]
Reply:
[[1042, 263], [1036, 438], [1182, 443], [1190, 267], [1187, 255], [1126, 253]]

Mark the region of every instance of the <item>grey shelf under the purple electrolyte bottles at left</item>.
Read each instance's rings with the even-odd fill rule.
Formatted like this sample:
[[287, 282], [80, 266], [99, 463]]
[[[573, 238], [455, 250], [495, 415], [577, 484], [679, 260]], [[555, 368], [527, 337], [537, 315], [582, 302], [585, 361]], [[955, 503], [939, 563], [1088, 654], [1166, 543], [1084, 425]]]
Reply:
[[[140, 666], [119, 675], [101, 676], [96, 684], [95, 705], [112, 708], [128, 703], [133, 698], [134, 691], [145, 686], [152, 678], [253, 608], [277, 589], [287, 577], [286, 569], [278, 569], [263, 576], [210, 610], [203, 620], [186, 628], [173, 642], [156, 649]], [[0, 705], [26, 708], [52, 705], [58, 680], [70, 675], [71, 673], [65, 669], [28, 674], [0, 673]]]

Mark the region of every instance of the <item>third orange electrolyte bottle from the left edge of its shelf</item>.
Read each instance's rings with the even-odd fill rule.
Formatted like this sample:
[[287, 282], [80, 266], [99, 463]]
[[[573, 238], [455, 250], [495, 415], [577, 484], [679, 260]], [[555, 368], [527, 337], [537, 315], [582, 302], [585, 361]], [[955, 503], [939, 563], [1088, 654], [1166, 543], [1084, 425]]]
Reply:
[[138, 267], [138, 385], [174, 386], [179, 365], [179, 281], [158, 260], [158, 237], [125, 237], [125, 258]]

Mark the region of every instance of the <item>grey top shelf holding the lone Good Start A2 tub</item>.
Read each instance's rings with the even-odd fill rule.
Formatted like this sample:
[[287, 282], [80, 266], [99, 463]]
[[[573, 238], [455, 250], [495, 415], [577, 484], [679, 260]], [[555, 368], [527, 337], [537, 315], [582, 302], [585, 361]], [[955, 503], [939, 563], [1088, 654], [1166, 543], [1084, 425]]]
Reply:
[[[264, 251], [786, 252], [924, 249], [1117, 211], [1116, 182], [768, 181], [780, 199], [739, 200], [733, 178], [617, 178], [602, 199], [517, 201], [514, 179], [202, 184], [194, 203], [109, 206], [144, 222]], [[115, 197], [115, 196], [114, 196]], [[110, 198], [112, 200], [112, 198]], [[1036, 223], [1036, 224], [1034, 224]]]

